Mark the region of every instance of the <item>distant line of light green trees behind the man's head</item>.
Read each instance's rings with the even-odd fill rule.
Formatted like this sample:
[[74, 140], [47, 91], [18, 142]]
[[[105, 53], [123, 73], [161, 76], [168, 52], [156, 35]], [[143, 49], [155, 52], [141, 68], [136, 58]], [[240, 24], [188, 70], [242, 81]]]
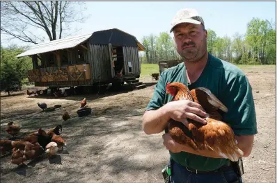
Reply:
[[[207, 32], [209, 53], [222, 60], [234, 64], [276, 64], [275, 22], [253, 18], [248, 22], [244, 35], [235, 33], [232, 37], [219, 37], [211, 29]], [[145, 54], [140, 54], [143, 63], [180, 59], [168, 33], [145, 36], [142, 44], [145, 46]]]

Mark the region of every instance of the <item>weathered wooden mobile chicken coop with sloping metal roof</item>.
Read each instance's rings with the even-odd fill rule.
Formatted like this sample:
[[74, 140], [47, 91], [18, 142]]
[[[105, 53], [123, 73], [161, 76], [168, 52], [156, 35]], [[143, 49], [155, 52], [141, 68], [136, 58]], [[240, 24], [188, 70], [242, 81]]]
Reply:
[[137, 88], [145, 51], [136, 37], [117, 28], [36, 44], [17, 58], [30, 56], [29, 81], [35, 87], [92, 86], [99, 82], [123, 83]]

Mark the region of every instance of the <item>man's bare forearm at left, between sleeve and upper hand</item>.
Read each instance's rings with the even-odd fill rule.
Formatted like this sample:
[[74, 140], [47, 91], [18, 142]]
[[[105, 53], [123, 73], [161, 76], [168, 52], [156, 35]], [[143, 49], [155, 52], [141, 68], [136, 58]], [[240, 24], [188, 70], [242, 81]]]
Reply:
[[157, 134], [166, 128], [168, 122], [163, 107], [158, 110], [150, 110], [143, 115], [143, 131], [145, 134]]

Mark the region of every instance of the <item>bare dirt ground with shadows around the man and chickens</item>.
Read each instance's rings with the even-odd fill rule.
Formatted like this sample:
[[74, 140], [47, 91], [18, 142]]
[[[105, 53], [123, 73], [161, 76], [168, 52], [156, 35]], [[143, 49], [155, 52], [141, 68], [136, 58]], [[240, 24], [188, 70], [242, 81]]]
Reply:
[[[243, 69], [253, 87], [258, 134], [251, 156], [244, 158], [245, 183], [276, 182], [276, 69]], [[1, 158], [1, 182], [163, 182], [161, 169], [168, 150], [161, 134], [146, 135], [141, 117], [155, 87], [155, 80], [143, 78], [145, 89], [96, 96], [66, 98], [1, 95], [1, 139], [9, 121], [22, 125], [21, 135], [38, 128], [48, 130], [63, 124], [62, 136], [68, 145], [54, 159], [38, 159], [27, 166], [10, 164], [10, 155]], [[86, 97], [93, 114], [79, 118], [79, 102]], [[37, 102], [62, 107], [41, 112]], [[71, 119], [63, 122], [68, 111]]]

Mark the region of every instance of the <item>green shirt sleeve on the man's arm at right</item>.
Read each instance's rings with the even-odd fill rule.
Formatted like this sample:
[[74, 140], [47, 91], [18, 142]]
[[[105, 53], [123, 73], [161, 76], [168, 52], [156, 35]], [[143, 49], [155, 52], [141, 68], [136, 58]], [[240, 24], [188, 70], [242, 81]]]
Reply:
[[235, 134], [258, 133], [252, 88], [246, 76], [237, 76], [228, 83], [224, 101], [228, 112], [223, 114], [223, 121]]

